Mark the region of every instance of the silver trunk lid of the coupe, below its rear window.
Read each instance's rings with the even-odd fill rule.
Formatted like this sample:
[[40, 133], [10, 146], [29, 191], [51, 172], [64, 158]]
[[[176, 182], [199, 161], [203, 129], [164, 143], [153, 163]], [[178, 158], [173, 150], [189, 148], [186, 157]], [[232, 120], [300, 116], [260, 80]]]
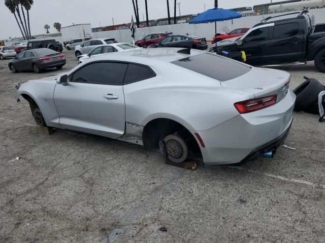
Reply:
[[255, 98], [277, 95], [277, 102], [288, 92], [290, 74], [285, 71], [255, 68], [237, 78], [221, 82], [224, 88], [234, 88], [251, 93]]

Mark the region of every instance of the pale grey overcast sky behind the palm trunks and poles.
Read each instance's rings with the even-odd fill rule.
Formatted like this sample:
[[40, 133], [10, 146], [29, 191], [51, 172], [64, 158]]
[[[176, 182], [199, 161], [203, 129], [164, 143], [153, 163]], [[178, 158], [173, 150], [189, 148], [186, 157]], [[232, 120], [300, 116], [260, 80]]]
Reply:
[[[279, 2], [280, 0], [273, 0]], [[144, 0], [139, 2], [139, 16], [145, 16]], [[174, 16], [174, 1], [169, 0], [171, 16]], [[237, 7], [252, 7], [253, 5], [269, 3], [270, 0], [219, 0], [219, 8], [231, 9]], [[197, 14], [212, 8], [214, 0], [177, 0], [180, 4], [181, 15]], [[167, 17], [167, 4], [165, 0], [148, 0], [149, 19]], [[29, 11], [31, 34], [45, 33], [45, 24], [50, 25], [50, 33], [56, 30], [54, 22], [68, 26], [81, 23], [90, 23], [91, 27], [122, 24], [131, 21], [133, 14], [132, 0], [34, 0], [34, 5]], [[178, 15], [178, 9], [177, 9]], [[0, 3], [0, 40], [21, 36], [14, 15], [7, 9], [4, 1]]]

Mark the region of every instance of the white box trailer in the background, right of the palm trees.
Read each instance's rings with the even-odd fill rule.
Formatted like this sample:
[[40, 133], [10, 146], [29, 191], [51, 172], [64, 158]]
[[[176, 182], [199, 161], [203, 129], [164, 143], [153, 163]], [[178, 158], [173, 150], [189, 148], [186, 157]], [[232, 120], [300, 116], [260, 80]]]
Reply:
[[70, 42], [72, 39], [91, 37], [90, 24], [74, 24], [61, 28], [62, 41]]

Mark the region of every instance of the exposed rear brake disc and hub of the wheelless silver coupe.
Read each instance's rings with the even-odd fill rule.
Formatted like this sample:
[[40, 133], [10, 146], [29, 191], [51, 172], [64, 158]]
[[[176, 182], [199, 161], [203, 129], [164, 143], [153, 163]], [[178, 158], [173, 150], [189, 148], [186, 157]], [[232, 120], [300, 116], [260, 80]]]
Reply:
[[182, 163], [188, 156], [186, 141], [179, 135], [168, 135], [164, 138], [167, 158], [174, 163]]

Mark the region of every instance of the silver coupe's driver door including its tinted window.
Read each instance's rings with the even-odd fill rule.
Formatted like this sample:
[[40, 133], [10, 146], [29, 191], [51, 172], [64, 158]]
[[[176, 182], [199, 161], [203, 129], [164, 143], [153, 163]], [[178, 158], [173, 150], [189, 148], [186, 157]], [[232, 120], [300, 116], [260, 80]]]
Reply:
[[124, 134], [123, 77], [128, 64], [93, 62], [56, 85], [54, 102], [62, 128], [118, 138]]

